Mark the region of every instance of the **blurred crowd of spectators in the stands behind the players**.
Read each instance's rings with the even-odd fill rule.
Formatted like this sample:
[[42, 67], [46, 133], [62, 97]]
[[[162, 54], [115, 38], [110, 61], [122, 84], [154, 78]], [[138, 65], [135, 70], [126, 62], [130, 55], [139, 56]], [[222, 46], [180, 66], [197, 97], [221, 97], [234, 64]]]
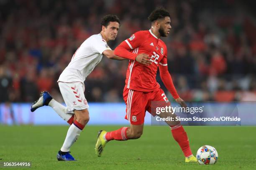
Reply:
[[[41, 91], [63, 101], [56, 81], [77, 47], [100, 32], [101, 18], [116, 14], [121, 20], [117, 39], [109, 43], [115, 49], [134, 32], [150, 28], [147, 17], [157, 6], [171, 14], [171, 33], [162, 40], [169, 72], [184, 100], [255, 101], [256, 23], [237, 3], [0, 0], [0, 102], [32, 102]], [[123, 102], [127, 66], [127, 60], [103, 57], [85, 80], [87, 100]], [[159, 76], [157, 80], [165, 89]]]

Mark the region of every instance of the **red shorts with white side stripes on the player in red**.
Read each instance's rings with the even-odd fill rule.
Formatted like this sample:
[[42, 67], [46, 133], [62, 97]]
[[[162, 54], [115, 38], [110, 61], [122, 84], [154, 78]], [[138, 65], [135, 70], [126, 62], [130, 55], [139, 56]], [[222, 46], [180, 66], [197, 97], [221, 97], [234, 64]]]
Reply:
[[161, 88], [152, 92], [140, 92], [136, 90], [128, 89], [123, 90], [123, 99], [126, 104], [125, 119], [129, 120], [132, 125], [142, 125], [144, 123], [144, 117], [146, 111], [155, 116], [155, 112], [151, 112], [152, 101], [158, 101], [161, 103], [158, 107], [170, 106], [171, 103], [167, 99], [164, 90]]

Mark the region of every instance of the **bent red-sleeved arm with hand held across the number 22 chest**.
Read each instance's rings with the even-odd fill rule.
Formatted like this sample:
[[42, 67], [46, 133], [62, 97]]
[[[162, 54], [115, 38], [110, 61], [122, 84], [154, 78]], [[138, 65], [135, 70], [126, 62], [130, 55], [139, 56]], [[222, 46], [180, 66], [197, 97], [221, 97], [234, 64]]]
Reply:
[[[150, 61], [150, 57], [148, 57], [148, 55], [144, 53], [136, 53], [136, 48], [141, 45], [141, 40], [141, 33], [136, 32], [130, 38], [126, 39], [125, 41], [120, 43], [118, 47], [115, 48], [115, 55], [118, 55], [129, 60], [136, 60], [137, 62], [144, 65], [152, 64], [152, 62]], [[133, 52], [131, 52], [130, 50], [133, 50]]]

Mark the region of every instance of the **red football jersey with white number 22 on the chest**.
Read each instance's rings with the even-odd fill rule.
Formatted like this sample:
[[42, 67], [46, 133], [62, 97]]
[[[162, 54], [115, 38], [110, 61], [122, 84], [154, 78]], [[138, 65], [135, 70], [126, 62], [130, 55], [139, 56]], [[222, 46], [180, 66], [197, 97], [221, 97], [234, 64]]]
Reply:
[[160, 85], [156, 82], [158, 65], [167, 66], [167, 48], [165, 43], [156, 37], [151, 30], [138, 31], [125, 42], [134, 54], [145, 53], [151, 57], [151, 65], [143, 65], [130, 60], [126, 72], [125, 86], [128, 89], [151, 92]]

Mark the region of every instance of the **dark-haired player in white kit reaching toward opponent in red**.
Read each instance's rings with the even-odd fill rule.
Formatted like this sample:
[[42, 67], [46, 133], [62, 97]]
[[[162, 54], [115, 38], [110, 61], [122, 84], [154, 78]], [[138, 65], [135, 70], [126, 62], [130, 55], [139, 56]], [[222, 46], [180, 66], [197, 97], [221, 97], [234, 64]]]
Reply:
[[64, 144], [57, 154], [58, 160], [75, 160], [69, 153], [70, 147], [89, 121], [89, 105], [84, 97], [85, 78], [100, 62], [103, 55], [114, 60], [124, 60], [114, 55], [114, 51], [107, 44], [109, 40], [115, 40], [119, 25], [120, 20], [116, 15], [106, 15], [101, 21], [100, 34], [92, 35], [82, 43], [59, 76], [59, 89], [67, 107], [54, 100], [48, 92], [41, 92], [39, 99], [31, 106], [32, 112], [44, 105], [51, 106], [71, 125]]

